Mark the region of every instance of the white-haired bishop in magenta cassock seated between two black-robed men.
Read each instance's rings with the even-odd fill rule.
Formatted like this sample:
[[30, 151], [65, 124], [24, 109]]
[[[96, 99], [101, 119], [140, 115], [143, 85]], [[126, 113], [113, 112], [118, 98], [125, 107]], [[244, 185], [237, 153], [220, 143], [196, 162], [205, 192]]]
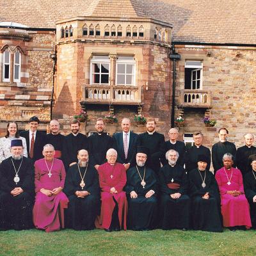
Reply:
[[126, 183], [126, 170], [123, 164], [116, 163], [117, 152], [109, 148], [107, 163], [99, 166], [99, 183], [101, 189], [101, 212], [95, 221], [97, 228], [106, 231], [126, 230], [127, 200], [123, 191]]

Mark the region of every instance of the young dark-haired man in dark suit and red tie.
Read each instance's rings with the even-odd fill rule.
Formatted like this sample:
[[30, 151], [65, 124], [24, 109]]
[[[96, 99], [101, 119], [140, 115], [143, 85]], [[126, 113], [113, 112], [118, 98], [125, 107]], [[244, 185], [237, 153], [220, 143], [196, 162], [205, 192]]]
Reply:
[[20, 136], [26, 139], [28, 157], [33, 161], [43, 158], [43, 149], [46, 136], [43, 132], [37, 131], [40, 123], [37, 116], [29, 118], [29, 130], [20, 132]]

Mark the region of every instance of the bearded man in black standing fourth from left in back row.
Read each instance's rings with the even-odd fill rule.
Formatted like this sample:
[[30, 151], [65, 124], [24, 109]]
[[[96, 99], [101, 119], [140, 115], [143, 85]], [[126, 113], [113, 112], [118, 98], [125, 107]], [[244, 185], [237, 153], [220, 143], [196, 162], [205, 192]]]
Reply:
[[79, 132], [80, 122], [76, 119], [70, 122], [71, 132], [64, 138], [63, 161], [65, 170], [68, 170], [72, 164], [77, 163], [77, 152], [81, 149], [88, 149], [87, 136]]

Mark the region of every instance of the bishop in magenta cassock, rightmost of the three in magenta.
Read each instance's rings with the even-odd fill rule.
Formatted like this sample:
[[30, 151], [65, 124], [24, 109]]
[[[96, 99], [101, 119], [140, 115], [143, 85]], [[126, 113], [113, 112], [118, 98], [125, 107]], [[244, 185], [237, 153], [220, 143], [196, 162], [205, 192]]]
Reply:
[[244, 195], [243, 176], [239, 169], [233, 168], [233, 156], [223, 156], [223, 167], [216, 172], [221, 196], [223, 226], [234, 231], [237, 228], [252, 227], [250, 207]]

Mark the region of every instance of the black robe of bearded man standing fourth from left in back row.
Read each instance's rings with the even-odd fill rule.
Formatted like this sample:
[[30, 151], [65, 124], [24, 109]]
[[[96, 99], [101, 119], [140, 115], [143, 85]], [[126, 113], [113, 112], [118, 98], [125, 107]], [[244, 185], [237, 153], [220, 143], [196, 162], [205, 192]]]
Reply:
[[66, 170], [68, 170], [69, 164], [77, 163], [77, 152], [81, 149], [88, 150], [88, 139], [86, 135], [79, 132], [77, 136], [74, 136], [72, 133], [65, 136], [62, 157]]

